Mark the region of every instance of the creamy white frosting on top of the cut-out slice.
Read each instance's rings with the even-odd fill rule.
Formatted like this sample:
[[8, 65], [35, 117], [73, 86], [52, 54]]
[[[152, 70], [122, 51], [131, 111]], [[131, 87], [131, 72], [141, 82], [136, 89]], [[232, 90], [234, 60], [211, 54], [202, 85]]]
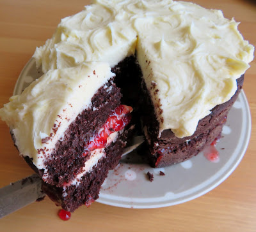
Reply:
[[[104, 62], [48, 71], [0, 109], [0, 117], [12, 130], [20, 154], [33, 158], [38, 169], [45, 168], [44, 177], [45, 157], [63, 139], [77, 115], [92, 106], [93, 95], [113, 75]], [[49, 140], [42, 142], [44, 138]]]

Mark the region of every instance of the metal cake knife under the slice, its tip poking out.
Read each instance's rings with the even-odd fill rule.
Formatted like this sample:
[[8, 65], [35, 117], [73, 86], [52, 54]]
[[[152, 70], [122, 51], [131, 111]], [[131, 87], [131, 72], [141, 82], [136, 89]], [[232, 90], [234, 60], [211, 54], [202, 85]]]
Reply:
[[[125, 148], [122, 156], [136, 149], [143, 141], [143, 136], [132, 138], [131, 145]], [[37, 199], [43, 198], [45, 194], [41, 189], [42, 180], [37, 174], [2, 187], [0, 189], [0, 219], [22, 207], [26, 207]]]

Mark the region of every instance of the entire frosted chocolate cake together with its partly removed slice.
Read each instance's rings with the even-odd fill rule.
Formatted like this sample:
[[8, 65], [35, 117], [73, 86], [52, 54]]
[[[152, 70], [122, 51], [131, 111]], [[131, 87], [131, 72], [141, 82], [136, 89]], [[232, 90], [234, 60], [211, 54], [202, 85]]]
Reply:
[[[134, 108], [132, 120], [137, 133], [145, 133], [145, 153], [154, 167], [189, 159], [220, 136], [253, 60], [254, 48], [243, 40], [237, 25], [221, 11], [172, 0], [95, 0], [63, 18], [52, 38], [33, 55], [45, 80], [68, 67], [99, 61], [108, 64], [108, 78], [98, 74], [100, 67], [75, 89], [73, 82], [70, 87], [55, 78], [40, 103], [22, 105], [24, 99], [14, 96], [12, 101], [21, 104], [4, 106], [6, 115], [1, 115], [20, 154], [42, 176], [45, 192], [70, 211], [97, 198], [106, 173], [122, 153], [124, 127], [130, 120], [131, 107], [120, 105], [118, 87], [122, 102]], [[71, 79], [74, 76], [65, 80]], [[49, 89], [48, 82], [33, 83], [26, 101], [42, 92], [44, 85]], [[66, 105], [63, 112], [59, 101], [44, 102], [54, 91], [65, 99], [60, 101]], [[26, 96], [28, 90], [24, 92]], [[10, 120], [13, 112], [20, 112], [15, 117], [26, 123]], [[45, 117], [48, 114], [51, 120]], [[31, 115], [36, 120], [28, 120]], [[33, 156], [31, 147], [35, 147]]]

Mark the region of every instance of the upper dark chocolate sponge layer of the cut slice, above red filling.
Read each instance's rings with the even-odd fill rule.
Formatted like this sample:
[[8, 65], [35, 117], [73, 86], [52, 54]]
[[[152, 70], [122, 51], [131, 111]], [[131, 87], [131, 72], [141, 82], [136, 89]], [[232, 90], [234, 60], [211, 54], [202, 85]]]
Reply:
[[[57, 187], [70, 182], [81, 172], [84, 162], [90, 158], [90, 153], [83, 156], [86, 141], [103, 126], [116, 106], [120, 105], [120, 89], [113, 80], [100, 87], [92, 98], [92, 106], [77, 115], [76, 120], [70, 124], [62, 141], [58, 141], [56, 149], [49, 159], [45, 161], [48, 167], [46, 182]], [[25, 160], [31, 164], [28, 157]], [[33, 168], [41, 177], [44, 169]]]

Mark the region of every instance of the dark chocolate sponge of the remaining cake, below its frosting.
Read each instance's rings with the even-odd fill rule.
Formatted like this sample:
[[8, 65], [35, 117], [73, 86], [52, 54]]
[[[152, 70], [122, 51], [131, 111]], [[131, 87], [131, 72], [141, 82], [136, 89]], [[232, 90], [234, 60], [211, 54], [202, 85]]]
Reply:
[[213, 108], [211, 114], [201, 119], [192, 136], [177, 138], [171, 129], [166, 129], [162, 132], [161, 138], [157, 138], [159, 122], [136, 57], [125, 58], [112, 71], [116, 73], [116, 85], [122, 91], [122, 101], [134, 108], [132, 120], [136, 124], [136, 133], [141, 133], [141, 127], [144, 127], [144, 130], [147, 128], [145, 135], [148, 140], [144, 152], [148, 154], [150, 165], [153, 167], [170, 166], [196, 156], [206, 145], [220, 136], [228, 110], [236, 101], [244, 80], [244, 75], [237, 79], [236, 94], [226, 103]]

